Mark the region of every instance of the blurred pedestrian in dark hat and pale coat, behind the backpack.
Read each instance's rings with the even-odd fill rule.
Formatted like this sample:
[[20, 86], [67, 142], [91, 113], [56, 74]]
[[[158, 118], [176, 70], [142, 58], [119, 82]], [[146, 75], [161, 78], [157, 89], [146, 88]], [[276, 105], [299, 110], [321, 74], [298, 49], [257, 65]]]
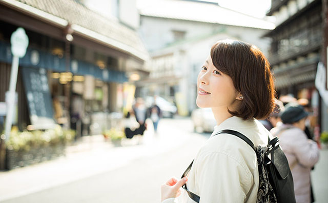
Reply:
[[283, 125], [275, 129], [280, 146], [285, 153], [294, 179], [297, 203], [314, 202], [311, 199], [311, 168], [319, 160], [319, 148], [315, 141], [304, 133], [308, 113], [297, 103], [286, 105], [281, 113]]

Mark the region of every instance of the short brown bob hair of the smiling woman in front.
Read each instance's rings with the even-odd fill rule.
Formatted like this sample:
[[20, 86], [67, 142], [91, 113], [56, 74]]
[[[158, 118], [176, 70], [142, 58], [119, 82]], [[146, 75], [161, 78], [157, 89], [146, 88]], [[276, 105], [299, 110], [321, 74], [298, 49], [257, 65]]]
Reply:
[[243, 96], [240, 106], [230, 111], [234, 116], [265, 119], [273, 111], [275, 90], [270, 64], [255, 46], [239, 40], [224, 39], [211, 48], [213, 65], [231, 77]]

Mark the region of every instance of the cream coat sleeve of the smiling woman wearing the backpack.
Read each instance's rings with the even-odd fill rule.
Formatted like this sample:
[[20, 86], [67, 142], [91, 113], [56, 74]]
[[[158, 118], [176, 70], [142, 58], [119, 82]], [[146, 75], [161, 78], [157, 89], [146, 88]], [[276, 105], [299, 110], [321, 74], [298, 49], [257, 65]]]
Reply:
[[253, 176], [242, 160], [227, 152], [201, 157], [195, 172], [200, 203], [244, 202], [254, 185]]

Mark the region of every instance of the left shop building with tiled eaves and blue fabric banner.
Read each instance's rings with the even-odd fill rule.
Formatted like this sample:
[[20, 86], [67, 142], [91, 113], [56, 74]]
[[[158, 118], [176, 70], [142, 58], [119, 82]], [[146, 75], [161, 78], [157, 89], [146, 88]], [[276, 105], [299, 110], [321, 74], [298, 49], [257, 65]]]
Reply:
[[117, 13], [125, 16], [120, 21], [89, 9], [85, 2], [0, 1], [1, 108], [6, 107], [9, 89], [10, 36], [22, 27], [29, 37], [17, 77], [14, 124], [19, 130], [45, 128], [50, 118], [80, 134], [100, 133], [109, 113], [122, 111], [130, 76], [147, 74], [148, 52], [136, 24], [123, 15], [128, 11], [116, 5]]

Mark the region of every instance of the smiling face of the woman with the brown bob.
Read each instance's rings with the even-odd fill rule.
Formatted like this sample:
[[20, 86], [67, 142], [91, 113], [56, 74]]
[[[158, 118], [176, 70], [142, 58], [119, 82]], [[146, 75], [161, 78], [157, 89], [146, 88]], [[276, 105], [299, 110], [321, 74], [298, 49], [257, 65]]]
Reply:
[[232, 104], [239, 96], [231, 77], [217, 70], [209, 56], [197, 77], [197, 106], [199, 108], [223, 107], [233, 110]]

